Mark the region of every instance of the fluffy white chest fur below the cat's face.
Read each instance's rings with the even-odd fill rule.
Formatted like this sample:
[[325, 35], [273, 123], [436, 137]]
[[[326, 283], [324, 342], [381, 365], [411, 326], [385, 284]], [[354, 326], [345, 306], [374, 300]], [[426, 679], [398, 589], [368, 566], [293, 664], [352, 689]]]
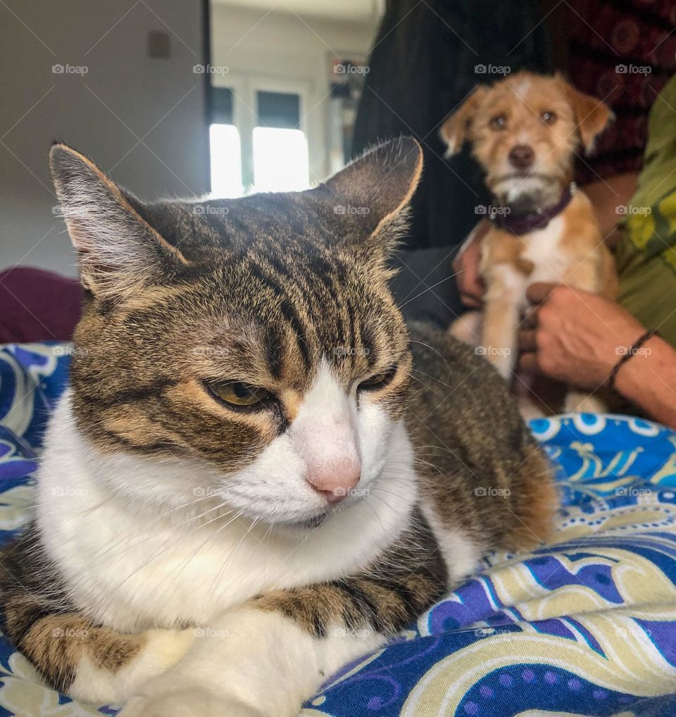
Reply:
[[[397, 473], [402, 500], [396, 511], [376, 485], [367, 498], [311, 533], [272, 533], [226, 508], [214, 508], [214, 501], [204, 501], [199, 511], [181, 518], [178, 511], [171, 516], [159, 509], [157, 515], [141, 513], [87, 470], [69, 410], [66, 399], [49, 429], [38, 474], [38, 523], [49, 556], [65, 575], [71, 601], [117, 630], [203, 625], [260, 592], [351, 574], [406, 529], [416, 501], [411, 470], [408, 482]], [[398, 439], [399, 461], [411, 460], [405, 433]], [[128, 467], [121, 470], [130, 473]], [[141, 465], [132, 477], [140, 483], [152, 480], [143, 470]], [[163, 478], [175, 471], [171, 480], [178, 482], [185, 479], [181, 472], [199, 468], [167, 465], [162, 470]], [[385, 495], [387, 490], [384, 486]]]

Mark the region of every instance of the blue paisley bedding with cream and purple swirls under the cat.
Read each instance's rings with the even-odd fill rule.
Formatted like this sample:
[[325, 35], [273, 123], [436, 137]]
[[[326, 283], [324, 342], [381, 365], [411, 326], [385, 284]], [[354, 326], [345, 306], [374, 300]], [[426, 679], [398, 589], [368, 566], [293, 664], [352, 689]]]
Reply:
[[[0, 347], [2, 540], [27, 520], [71, 351]], [[488, 556], [394, 644], [334, 675], [304, 717], [676, 715], [676, 433], [614, 415], [531, 427], [563, 496], [553, 545]], [[115, 709], [44, 687], [0, 636], [0, 717], [96, 714]]]

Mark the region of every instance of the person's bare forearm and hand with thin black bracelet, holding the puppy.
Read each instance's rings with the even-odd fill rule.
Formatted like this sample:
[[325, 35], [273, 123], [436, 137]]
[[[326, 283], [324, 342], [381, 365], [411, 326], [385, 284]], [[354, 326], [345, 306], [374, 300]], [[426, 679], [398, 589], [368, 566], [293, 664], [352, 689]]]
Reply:
[[[555, 284], [533, 284], [535, 306], [519, 333], [520, 366], [581, 389], [604, 386], [624, 353], [645, 333], [611, 301]], [[653, 336], [620, 367], [615, 388], [650, 417], [676, 427], [676, 350]]]

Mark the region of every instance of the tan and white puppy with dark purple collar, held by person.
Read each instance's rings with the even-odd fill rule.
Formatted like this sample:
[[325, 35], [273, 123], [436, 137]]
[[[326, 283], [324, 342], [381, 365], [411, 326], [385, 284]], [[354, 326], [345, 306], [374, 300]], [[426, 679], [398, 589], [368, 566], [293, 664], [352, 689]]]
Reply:
[[[518, 72], [477, 87], [442, 125], [447, 156], [470, 143], [493, 196], [480, 262], [485, 306], [457, 320], [451, 331], [482, 346], [505, 379], [515, 371], [528, 285], [565, 283], [611, 300], [617, 295], [614, 262], [594, 209], [573, 184], [576, 153], [589, 153], [612, 117], [607, 105], [558, 75]], [[536, 399], [533, 391], [528, 396], [521, 402], [526, 417], [562, 408]], [[574, 391], [563, 403], [571, 411], [604, 409], [595, 397]]]

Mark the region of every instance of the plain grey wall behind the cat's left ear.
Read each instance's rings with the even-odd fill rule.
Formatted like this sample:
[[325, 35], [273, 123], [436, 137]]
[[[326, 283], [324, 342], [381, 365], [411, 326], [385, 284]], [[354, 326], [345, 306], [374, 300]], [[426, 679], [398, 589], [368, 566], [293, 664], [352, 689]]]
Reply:
[[[130, 0], [0, 3], [0, 267], [75, 274], [65, 227], [52, 214], [47, 152], [54, 138], [143, 198], [206, 190], [204, 75], [192, 70], [204, 62], [201, 0], [132, 6]], [[171, 58], [151, 59], [146, 33], [167, 26], [176, 33], [170, 32]], [[55, 64], [88, 72], [53, 74]]]

